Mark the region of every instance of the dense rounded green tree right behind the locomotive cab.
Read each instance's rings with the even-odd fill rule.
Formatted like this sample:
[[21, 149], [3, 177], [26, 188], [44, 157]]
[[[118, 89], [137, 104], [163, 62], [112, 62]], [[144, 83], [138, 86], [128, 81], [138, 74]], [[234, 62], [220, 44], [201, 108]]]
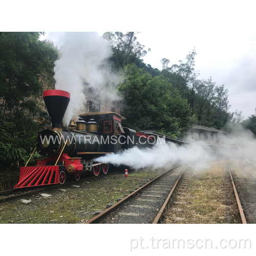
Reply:
[[124, 67], [125, 82], [118, 91], [122, 94], [124, 125], [136, 131], [152, 129], [168, 135], [181, 136], [193, 122], [187, 100], [172, 92], [172, 84], [163, 75], [143, 73], [136, 65]]

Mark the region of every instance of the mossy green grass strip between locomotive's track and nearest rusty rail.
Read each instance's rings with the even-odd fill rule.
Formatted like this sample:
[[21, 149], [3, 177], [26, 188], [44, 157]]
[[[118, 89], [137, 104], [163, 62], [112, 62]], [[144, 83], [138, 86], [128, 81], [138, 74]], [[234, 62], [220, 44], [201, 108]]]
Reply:
[[[0, 223], [84, 223], [95, 216], [95, 212], [105, 209], [109, 203], [123, 198], [131, 190], [148, 182], [159, 174], [158, 170], [139, 170], [129, 172], [129, 177], [123, 173], [108, 174], [91, 181], [81, 180], [79, 187], [61, 186], [42, 193], [50, 194], [45, 198], [38, 192], [0, 203]], [[62, 192], [58, 189], [66, 189]], [[20, 199], [31, 200], [23, 204]]]

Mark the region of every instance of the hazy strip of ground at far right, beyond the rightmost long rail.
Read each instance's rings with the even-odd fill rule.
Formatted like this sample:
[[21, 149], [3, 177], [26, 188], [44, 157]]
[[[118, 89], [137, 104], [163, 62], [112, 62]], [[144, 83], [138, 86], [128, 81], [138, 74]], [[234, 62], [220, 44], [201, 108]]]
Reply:
[[256, 223], [256, 167], [248, 161], [233, 161], [230, 170], [244, 208], [247, 223]]

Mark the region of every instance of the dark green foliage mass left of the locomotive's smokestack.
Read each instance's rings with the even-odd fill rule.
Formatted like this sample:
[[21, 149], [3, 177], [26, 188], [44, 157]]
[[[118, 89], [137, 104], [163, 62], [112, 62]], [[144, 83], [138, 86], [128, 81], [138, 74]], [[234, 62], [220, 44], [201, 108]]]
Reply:
[[54, 87], [58, 52], [41, 34], [0, 32], [0, 171], [33, 151], [42, 91]]

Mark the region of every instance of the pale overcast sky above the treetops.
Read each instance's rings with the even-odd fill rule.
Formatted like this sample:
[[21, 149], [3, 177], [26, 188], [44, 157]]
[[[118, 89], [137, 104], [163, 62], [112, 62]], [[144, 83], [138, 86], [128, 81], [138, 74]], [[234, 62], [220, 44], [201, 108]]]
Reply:
[[[104, 31], [106, 32], [106, 31]], [[219, 29], [193, 33], [178, 33], [172, 30], [174, 38], [162, 31], [141, 31], [137, 34], [138, 41], [151, 48], [143, 57], [144, 63], [161, 70], [162, 58], [170, 60], [169, 67], [186, 61], [186, 55], [196, 48], [195, 71], [199, 79], [212, 77], [217, 86], [224, 84], [228, 89], [230, 112], [242, 111], [246, 118], [255, 114], [256, 108], [256, 33], [251, 30], [233, 29], [219, 25]], [[99, 34], [103, 34], [99, 32]], [[59, 33], [47, 32], [46, 38], [60, 46]], [[175, 38], [179, 39], [176, 40]]]

